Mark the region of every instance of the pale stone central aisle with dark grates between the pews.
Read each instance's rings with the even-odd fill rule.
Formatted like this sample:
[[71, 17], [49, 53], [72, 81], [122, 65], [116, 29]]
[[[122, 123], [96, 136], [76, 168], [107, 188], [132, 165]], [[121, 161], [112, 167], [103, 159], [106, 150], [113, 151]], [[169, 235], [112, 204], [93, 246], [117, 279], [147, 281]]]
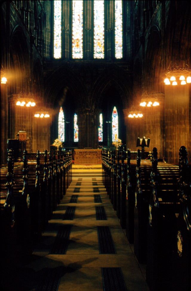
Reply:
[[50, 285], [55, 291], [149, 290], [99, 166], [73, 167], [73, 181], [33, 255], [39, 259], [32, 268], [44, 272], [37, 291]]

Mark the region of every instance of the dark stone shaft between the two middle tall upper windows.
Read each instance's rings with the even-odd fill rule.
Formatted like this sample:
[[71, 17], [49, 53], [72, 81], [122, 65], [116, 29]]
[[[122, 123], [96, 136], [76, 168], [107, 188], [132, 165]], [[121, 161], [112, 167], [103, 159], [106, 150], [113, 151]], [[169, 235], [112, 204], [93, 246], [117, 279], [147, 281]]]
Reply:
[[84, 1], [84, 58], [90, 60], [93, 57], [93, 29], [92, 29], [93, 1]]

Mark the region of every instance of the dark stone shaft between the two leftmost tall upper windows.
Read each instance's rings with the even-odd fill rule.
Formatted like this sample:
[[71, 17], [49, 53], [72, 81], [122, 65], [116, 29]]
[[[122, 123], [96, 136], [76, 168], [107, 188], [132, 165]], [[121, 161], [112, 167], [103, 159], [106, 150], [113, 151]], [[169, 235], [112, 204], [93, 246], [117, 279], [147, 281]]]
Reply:
[[70, 11], [72, 11], [72, 1], [63, 1], [62, 15], [63, 30], [62, 30], [62, 57], [64, 59], [70, 58]]

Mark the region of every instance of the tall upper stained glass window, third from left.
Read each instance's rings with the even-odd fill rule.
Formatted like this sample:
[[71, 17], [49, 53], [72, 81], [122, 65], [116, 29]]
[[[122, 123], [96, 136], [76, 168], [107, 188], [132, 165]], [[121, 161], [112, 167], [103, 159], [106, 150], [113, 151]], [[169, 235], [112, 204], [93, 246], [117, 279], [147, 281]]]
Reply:
[[94, 0], [94, 52], [95, 59], [104, 58], [104, 1]]

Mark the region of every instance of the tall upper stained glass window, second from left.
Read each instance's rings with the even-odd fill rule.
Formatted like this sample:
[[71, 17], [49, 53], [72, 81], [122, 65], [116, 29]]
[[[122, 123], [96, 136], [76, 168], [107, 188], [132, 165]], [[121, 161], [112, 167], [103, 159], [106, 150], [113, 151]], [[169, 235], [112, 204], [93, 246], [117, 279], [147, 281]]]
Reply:
[[72, 57], [83, 58], [83, 1], [72, 1]]

